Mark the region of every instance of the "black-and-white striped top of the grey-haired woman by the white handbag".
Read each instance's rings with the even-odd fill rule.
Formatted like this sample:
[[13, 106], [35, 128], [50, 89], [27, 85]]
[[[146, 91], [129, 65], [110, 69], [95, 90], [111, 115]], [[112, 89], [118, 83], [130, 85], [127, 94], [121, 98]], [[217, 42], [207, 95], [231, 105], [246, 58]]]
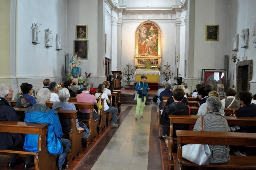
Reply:
[[[193, 131], [202, 131], [202, 119], [199, 117]], [[217, 112], [210, 112], [204, 116], [205, 132], [229, 132], [227, 120]], [[229, 161], [229, 145], [212, 145], [210, 164], [221, 164]]]

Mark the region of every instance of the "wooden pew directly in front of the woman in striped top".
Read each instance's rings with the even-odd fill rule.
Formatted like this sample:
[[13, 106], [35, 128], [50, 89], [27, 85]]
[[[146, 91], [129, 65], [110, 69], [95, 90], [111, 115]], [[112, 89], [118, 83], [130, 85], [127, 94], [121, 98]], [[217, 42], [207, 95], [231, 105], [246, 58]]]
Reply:
[[[170, 119], [170, 134], [168, 137], [168, 159], [173, 160], [173, 124], [182, 123], [182, 124], [195, 124], [199, 116], [196, 115], [169, 115]], [[225, 116], [225, 119], [228, 122], [228, 125], [240, 125], [240, 126], [256, 126], [256, 117], [232, 117]]]

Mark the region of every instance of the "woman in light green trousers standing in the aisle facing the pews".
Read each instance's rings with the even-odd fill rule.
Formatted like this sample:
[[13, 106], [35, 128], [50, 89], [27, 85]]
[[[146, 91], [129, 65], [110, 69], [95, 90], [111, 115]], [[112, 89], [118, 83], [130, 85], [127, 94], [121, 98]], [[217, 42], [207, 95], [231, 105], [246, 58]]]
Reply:
[[136, 113], [135, 113], [135, 119], [138, 119], [138, 115], [140, 113], [140, 118], [143, 118], [143, 110], [144, 110], [144, 104], [147, 97], [147, 92], [149, 91], [148, 83], [146, 83], [147, 77], [142, 75], [141, 81], [137, 82], [135, 86], [135, 91], [138, 91], [136, 96]]

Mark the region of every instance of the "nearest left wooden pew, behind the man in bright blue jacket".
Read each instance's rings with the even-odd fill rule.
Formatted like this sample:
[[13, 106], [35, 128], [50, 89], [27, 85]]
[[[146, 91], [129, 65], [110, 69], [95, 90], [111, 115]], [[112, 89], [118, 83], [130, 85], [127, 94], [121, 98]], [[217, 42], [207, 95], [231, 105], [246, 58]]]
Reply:
[[48, 153], [46, 146], [46, 134], [48, 123], [27, 123], [0, 121], [0, 132], [38, 134], [37, 153], [24, 151], [23, 148], [12, 148], [11, 150], [0, 150], [2, 153], [29, 154], [34, 155], [35, 169], [57, 169], [56, 158], [58, 155]]

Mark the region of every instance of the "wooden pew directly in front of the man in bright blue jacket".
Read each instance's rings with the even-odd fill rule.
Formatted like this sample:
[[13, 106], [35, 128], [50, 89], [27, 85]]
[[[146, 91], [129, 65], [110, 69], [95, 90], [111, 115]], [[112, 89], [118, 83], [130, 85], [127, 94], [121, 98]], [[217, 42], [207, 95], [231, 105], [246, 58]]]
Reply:
[[[27, 108], [14, 108], [17, 112], [17, 115], [20, 119], [25, 118], [25, 111]], [[64, 132], [64, 134], [67, 134], [70, 142], [71, 147], [69, 150], [69, 153], [66, 155], [67, 157], [67, 166], [68, 168], [71, 163], [72, 159], [76, 158], [77, 155], [80, 155], [83, 152], [83, 146], [82, 146], [82, 132], [78, 131], [76, 128], [76, 118], [77, 118], [77, 112], [78, 111], [67, 111], [67, 110], [56, 110], [60, 118], [69, 118], [71, 119], [71, 129], [68, 132]]]

